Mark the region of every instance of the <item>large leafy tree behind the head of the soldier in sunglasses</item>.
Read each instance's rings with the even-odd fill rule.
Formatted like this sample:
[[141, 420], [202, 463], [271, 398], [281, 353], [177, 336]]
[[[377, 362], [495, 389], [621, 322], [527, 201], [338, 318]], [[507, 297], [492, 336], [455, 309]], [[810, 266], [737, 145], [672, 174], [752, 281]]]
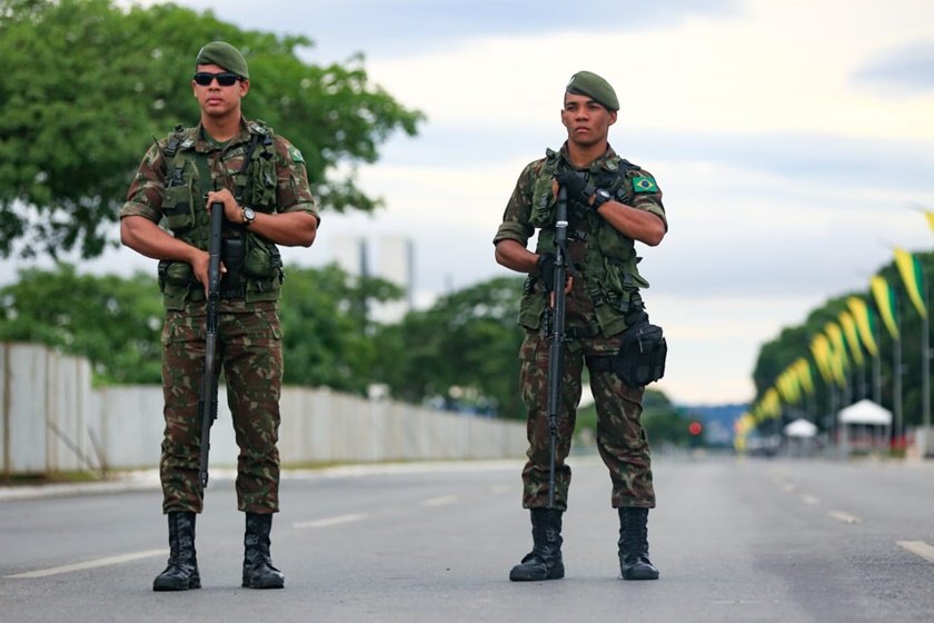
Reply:
[[[304, 154], [326, 208], [371, 211], [356, 182], [394, 131], [423, 119], [370, 83], [361, 56], [316, 66], [306, 37], [245, 31], [175, 4], [0, 0], [0, 257], [99, 255], [152, 137], [192, 125], [198, 47], [223, 39], [250, 63], [244, 102]], [[349, 165], [341, 166], [338, 165]]]

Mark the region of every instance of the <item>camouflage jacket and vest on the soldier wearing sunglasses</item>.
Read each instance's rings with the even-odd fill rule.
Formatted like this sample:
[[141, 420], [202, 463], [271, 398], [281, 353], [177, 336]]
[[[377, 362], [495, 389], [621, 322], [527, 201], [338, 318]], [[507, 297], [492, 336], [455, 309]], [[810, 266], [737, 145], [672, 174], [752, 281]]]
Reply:
[[[219, 188], [228, 188], [240, 205], [257, 211], [305, 211], [318, 217], [298, 149], [261, 121], [241, 119], [239, 134], [223, 145], [207, 138], [200, 123], [176, 128], [158, 140], [143, 156], [120, 218], [142, 216], [207, 250], [210, 218], [205, 196]], [[245, 241], [246, 300], [276, 300], [281, 278], [276, 245], [249, 231]], [[203, 299], [188, 264], [162, 261], [159, 268], [167, 308], [183, 309]]]

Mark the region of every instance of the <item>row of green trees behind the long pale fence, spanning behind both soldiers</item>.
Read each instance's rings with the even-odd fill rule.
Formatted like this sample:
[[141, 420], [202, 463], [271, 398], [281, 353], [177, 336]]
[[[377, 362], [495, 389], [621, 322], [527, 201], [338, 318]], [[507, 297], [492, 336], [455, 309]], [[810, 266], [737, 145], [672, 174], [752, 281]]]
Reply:
[[[380, 324], [372, 310], [400, 300], [399, 287], [337, 265], [288, 267], [280, 300], [284, 382], [358, 395], [384, 384], [403, 402], [521, 419], [521, 284], [495, 278]], [[87, 357], [99, 384], [161, 382], [163, 316], [156, 279], [145, 274], [80, 275], [60, 263], [21, 270], [17, 283], [0, 288], [0, 340]], [[582, 409], [582, 426], [595, 418], [592, 412]], [[664, 394], [646, 392], [646, 427], [659, 438], [677, 443], [667, 428], [679, 417]]]

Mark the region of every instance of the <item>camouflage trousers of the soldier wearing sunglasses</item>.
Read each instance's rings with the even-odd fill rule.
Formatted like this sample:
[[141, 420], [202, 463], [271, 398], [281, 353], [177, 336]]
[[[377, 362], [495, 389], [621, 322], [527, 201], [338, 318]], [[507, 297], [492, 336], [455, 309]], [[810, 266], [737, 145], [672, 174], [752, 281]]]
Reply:
[[[205, 369], [206, 316], [168, 310], [162, 328], [162, 394], [166, 432], [159, 475], [162, 511], [200, 513], [198, 477], [201, 414], [198, 399]], [[227, 404], [239, 447], [237, 505], [240, 511], [279, 510], [279, 395], [282, 333], [275, 303], [222, 312], [218, 322], [218, 375], [223, 372]], [[220, 396], [218, 396], [220, 399]]]

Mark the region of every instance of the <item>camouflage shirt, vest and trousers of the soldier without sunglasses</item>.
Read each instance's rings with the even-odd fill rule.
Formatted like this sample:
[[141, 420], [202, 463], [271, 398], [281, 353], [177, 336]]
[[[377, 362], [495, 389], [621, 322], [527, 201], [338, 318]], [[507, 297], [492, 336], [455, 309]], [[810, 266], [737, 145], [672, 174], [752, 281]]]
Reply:
[[[526, 246], [538, 229], [536, 253], [554, 253], [552, 180], [556, 172], [573, 168], [567, 146], [548, 150], [546, 158], [529, 164], [519, 176], [494, 244], [513, 239]], [[615, 199], [647, 210], [665, 220], [662, 192], [647, 171], [620, 159], [607, 148], [588, 168], [588, 178], [616, 180]], [[614, 229], [593, 210], [568, 206], [568, 259], [577, 276], [567, 297], [566, 327], [570, 338], [565, 348], [562, 402], [558, 409], [558, 444], [555, 473], [555, 507], [567, 508], [570, 449], [577, 404], [582, 393], [584, 364], [594, 357], [616, 353], [627, 318], [643, 310], [640, 287], [648, 287], [636, 264], [633, 240]], [[550, 456], [548, 428], [548, 315], [546, 294], [539, 277], [530, 274], [525, 284], [519, 324], [526, 336], [519, 350], [520, 386], [528, 408], [528, 461], [523, 469], [523, 506], [541, 508], [548, 500]], [[613, 372], [590, 373], [590, 389], [597, 408], [597, 447], [609, 468], [614, 507], [655, 506], [648, 439], [642, 426], [643, 387], [627, 387]]]

